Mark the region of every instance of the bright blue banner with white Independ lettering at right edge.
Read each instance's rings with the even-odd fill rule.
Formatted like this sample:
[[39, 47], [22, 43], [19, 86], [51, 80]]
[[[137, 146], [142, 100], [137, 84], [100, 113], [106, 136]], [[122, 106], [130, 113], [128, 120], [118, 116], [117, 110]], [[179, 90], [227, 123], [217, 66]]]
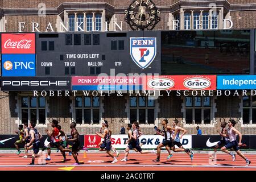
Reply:
[[256, 89], [256, 75], [217, 76], [217, 89]]

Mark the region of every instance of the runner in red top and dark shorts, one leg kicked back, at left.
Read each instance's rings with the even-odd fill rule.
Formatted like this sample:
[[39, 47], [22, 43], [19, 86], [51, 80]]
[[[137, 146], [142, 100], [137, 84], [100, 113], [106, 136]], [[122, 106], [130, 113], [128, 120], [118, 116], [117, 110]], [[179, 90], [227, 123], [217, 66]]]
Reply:
[[62, 161], [67, 162], [68, 160], [66, 158], [65, 152], [71, 152], [71, 150], [69, 148], [63, 148], [60, 145], [60, 140], [59, 140], [60, 126], [58, 124], [59, 124], [59, 122], [56, 119], [53, 119], [52, 120], [52, 130], [48, 131], [46, 129], [46, 133], [47, 133], [48, 137], [51, 137], [53, 146], [61, 151], [61, 154], [63, 155], [63, 158], [64, 158], [64, 160], [62, 160]]

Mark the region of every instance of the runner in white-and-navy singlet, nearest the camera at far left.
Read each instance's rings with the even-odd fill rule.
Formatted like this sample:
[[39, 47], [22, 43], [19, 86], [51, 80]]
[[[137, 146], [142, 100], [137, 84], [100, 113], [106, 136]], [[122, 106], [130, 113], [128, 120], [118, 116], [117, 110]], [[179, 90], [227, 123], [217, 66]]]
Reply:
[[39, 146], [40, 146], [40, 139], [43, 137], [38, 130], [35, 129], [36, 124], [35, 123], [30, 123], [30, 136], [31, 140], [30, 143], [27, 143], [27, 147], [32, 146], [32, 162], [30, 165], [35, 165], [35, 156], [39, 152]]

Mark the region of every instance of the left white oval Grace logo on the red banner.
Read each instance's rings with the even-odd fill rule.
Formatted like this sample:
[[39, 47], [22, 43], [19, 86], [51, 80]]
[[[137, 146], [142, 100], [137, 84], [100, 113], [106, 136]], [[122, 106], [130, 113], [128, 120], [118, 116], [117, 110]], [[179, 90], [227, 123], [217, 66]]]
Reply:
[[152, 78], [147, 85], [155, 90], [167, 90], [174, 86], [174, 81], [169, 78]]

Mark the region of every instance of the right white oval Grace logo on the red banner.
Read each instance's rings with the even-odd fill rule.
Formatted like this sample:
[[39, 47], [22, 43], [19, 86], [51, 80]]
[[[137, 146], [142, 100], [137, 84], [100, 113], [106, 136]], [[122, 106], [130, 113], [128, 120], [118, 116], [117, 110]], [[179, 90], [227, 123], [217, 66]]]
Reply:
[[210, 86], [210, 80], [207, 78], [193, 77], [184, 81], [183, 85], [189, 89], [202, 90]]

